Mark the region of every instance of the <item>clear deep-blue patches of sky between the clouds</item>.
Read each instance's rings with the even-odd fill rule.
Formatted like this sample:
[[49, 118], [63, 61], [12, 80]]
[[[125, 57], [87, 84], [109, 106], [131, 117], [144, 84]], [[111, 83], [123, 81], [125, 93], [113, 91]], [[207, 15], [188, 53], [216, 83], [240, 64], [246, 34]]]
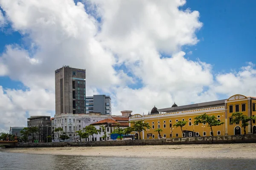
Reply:
[[[203, 27], [196, 32], [200, 40], [198, 44], [183, 46], [186, 53], [192, 51], [186, 57], [192, 60], [199, 58], [212, 64], [213, 74], [231, 69], [239, 71], [241, 66], [247, 65], [246, 62], [253, 62], [256, 58], [255, 6], [255, 0], [187, 0], [181, 9], [199, 11]], [[5, 45], [24, 43], [19, 32], [12, 30], [10, 25], [1, 29], [0, 40], [0, 54], [5, 50]], [[22, 86], [9, 77], [0, 77], [0, 82], [4, 88], [18, 89]], [[140, 88], [142, 85], [138, 83], [129, 87]]]

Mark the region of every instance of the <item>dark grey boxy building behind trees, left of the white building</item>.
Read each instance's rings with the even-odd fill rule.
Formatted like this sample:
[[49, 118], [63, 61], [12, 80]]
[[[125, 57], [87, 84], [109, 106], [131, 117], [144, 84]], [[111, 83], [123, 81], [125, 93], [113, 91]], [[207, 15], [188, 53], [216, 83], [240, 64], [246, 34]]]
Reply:
[[[37, 127], [38, 133], [34, 134], [34, 139], [39, 142], [47, 142], [47, 136], [51, 134], [50, 116], [30, 116], [28, 118], [28, 127]], [[32, 140], [32, 136], [29, 137]]]

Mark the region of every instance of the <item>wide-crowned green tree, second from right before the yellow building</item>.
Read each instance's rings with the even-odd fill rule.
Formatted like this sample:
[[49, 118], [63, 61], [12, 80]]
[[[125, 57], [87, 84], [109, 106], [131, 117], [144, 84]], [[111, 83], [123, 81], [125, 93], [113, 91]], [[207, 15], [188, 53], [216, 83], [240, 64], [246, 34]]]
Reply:
[[[194, 119], [195, 119], [195, 121], [194, 121], [195, 124], [198, 124], [198, 123], [206, 124], [207, 123], [208, 127], [211, 128], [211, 131], [212, 131], [212, 126], [219, 126], [219, 125], [224, 124], [224, 122], [218, 121], [216, 116], [214, 116], [214, 115], [209, 116], [206, 113], [196, 116]], [[213, 136], [213, 131], [212, 131], [212, 136]]]

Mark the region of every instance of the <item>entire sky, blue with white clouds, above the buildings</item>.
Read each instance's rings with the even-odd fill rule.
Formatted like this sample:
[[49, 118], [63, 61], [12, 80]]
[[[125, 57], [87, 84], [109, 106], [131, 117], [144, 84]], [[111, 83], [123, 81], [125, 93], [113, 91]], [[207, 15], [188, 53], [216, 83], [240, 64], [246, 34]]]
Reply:
[[255, 0], [0, 0], [0, 132], [55, 114], [54, 71], [86, 68], [112, 114], [256, 96]]

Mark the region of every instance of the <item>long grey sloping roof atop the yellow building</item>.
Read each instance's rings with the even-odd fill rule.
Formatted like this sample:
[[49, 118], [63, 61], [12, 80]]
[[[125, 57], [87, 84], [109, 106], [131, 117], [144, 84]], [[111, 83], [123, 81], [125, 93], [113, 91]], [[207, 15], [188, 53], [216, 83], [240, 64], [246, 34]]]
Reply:
[[192, 109], [192, 108], [202, 108], [207, 106], [217, 106], [217, 105], [225, 105], [225, 100], [215, 100], [211, 102], [203, 102], [203, 103], [196, 103], [191, 105], [183, 105], [183, 106], [177, 106], [172, 108], [163, 108], [163, 109], [157, 109], [159, 112], [172, 112], [172, 111], [178, 111], [178, 110], [185, 110], [185, 109]]

